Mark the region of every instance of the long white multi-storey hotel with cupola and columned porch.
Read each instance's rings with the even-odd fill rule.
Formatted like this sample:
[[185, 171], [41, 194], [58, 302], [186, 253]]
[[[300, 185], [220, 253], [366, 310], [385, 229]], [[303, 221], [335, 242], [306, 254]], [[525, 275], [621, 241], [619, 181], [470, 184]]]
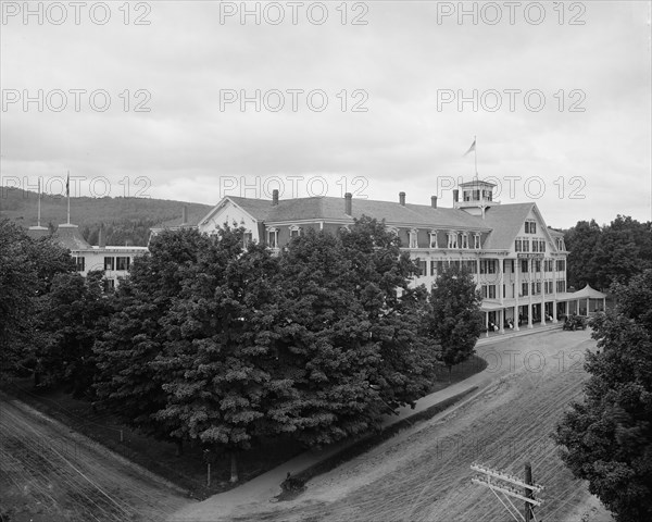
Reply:
[[389, 202], [353, 200], [350, 194], [279, 200], [275, 190], [272, 200], [225, 197], [197, 223], [185, 216], [167, 228], [197, 227], [211, 235], [228, 223], [244, 227], [246, 240], [279, 252], [309, 229], [337, 233], [367, 215], [385, 220], [419, 266], [414, 285], [431, 287], [444, 266], [466, 266], [481, 291], [488, 331], [556, 323], [569, 312], [568, 301], [575, 302], [566, 291], [563, 234], [546, 225], [536, 203], [500, 204], [493, 188], [477, 179], [461, 184], [452, 208], [439, 207], [436, 196], [429, 206], [409, 203], [404, 192]]

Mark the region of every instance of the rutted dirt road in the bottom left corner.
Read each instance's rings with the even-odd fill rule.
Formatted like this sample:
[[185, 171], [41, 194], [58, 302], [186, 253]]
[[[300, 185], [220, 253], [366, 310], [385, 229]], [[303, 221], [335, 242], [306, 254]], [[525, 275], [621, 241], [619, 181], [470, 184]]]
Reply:
[[187, 502], [145, 470], [0, 396], [0, 506], [12, 522], [161, 521]]

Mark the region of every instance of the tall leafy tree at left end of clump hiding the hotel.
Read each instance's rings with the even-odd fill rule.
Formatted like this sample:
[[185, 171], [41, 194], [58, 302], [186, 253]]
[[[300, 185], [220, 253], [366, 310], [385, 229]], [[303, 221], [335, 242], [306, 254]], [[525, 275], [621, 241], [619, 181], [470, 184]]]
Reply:
[[108, 332], [96, 343], [98, 403], [143, 433], [165, 440], [178, 427], [154, 419], [167, 403], [170, 375], [153, 366], [166, 340], [163, 322], [184, 289], [188, 274], [210, 245], [197, 231], [163, 232], [150, 252], [134, 260], [131, 272], [113, 296]]

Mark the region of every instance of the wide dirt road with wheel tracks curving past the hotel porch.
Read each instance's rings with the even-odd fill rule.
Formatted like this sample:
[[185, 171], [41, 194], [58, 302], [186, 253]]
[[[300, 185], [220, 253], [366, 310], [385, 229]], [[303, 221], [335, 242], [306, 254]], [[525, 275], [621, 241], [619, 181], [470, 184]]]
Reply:
[[585, 517], [586, 484], [573, 478], [550, 439], [563, 410], [581, 396], [587, 348], [594, 349], [589, 331], [482, 347], [490, 384], [477, 397], [316, 477], [292, 501], [212, 506], [208, 499], [191, 508], [196, 520], [506, 522], [514, 519], [491, 492], [471, 483], [469, 465], [522, 476], [527, 460], [546, 486], [538, 520], [609, 520], [603, 509]]

